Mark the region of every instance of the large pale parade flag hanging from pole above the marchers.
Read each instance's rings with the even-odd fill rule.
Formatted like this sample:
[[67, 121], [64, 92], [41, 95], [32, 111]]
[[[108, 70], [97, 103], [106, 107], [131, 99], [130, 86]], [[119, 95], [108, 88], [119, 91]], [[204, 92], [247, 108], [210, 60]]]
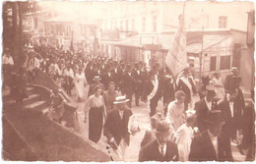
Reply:
[[[184, 12], [183, 12], [184, 13]], [[179, 16], [179, 26], [174, 34], [165, 63], [174, 76], [187, 67], [186, 31], [184, 14]]]

